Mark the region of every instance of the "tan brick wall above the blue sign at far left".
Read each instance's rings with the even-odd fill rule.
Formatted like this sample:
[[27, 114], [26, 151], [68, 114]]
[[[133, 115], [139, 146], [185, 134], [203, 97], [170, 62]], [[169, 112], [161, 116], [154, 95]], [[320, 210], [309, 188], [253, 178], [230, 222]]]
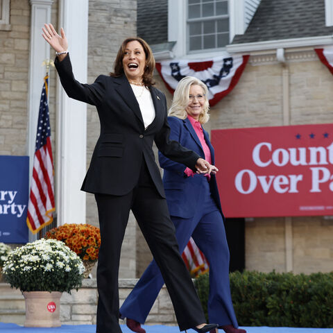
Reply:
[[11, 31], [0, 31], [0, 155], [26, 155], [28, 0], [11, 1], [10, 23]]

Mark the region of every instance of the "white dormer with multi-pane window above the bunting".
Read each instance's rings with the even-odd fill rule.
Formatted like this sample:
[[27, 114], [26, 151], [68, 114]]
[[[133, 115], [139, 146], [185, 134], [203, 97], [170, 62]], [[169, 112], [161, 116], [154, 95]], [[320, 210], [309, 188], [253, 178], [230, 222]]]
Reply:
[[176, 58], [223, 53], [246, 31], [261, 0], [169, 0], [169, 42]]

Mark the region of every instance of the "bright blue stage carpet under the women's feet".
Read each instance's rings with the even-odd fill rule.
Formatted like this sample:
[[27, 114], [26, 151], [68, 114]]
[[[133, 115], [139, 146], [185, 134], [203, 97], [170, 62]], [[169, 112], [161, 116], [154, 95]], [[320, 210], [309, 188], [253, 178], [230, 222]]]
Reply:
[[[147, 333], [179, 333], [177, 326], [143, 325]], [[241, 327], [248, 333], [333, 333], [333, 328], [295, 328], [295, 327]], [[133, 333], [121, 325], [123, 333]], [[0, 323], [1, 333], [95, 333], [95, 325], [62, 325], [61, 327], [22, 327], [16, 324]], [[188, 330], [194, 333], [194, 330]], [[224, 333], [223, 330], [219, 330]]]

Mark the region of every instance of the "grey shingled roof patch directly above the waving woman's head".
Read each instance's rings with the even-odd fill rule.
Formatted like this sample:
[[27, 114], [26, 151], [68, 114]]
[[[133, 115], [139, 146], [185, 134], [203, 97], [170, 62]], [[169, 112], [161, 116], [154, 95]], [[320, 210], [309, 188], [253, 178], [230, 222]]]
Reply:
[[168, 41], [168, 0], [137, 0], [137, 35], [148, 44]]

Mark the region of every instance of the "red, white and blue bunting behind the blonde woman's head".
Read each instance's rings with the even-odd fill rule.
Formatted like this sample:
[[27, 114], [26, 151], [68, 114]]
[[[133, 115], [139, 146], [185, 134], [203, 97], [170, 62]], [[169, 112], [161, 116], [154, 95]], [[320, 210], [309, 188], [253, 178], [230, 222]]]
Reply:
[[156, 63], [156, 69], [173, 94], [185, 76], [194, 76], [208, 87], [210, 106], [214, 106], [237, 85], [249, 56], [213, 58], [205, 61], [171, 60]]

